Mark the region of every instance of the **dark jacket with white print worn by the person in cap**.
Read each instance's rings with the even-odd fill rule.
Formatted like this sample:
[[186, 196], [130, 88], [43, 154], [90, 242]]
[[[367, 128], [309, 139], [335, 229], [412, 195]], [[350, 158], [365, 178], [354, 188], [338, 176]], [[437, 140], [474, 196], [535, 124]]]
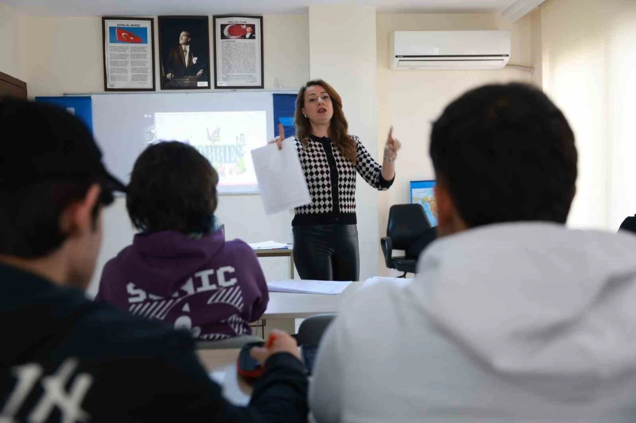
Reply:
[[5, 265], [0, 281], [0, 420], [307, 422], [307, 378], [291, 354], [268, 359], [250, 406], [233, 406], [186, 332]]

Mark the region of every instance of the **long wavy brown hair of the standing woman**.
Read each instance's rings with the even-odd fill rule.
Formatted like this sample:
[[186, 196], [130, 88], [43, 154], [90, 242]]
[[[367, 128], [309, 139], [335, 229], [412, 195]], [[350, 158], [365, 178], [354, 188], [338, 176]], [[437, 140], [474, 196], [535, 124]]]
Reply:
[[356, 163], [356, 141], [349, 135], [349, 124], [347, 123], [345, 114], [342, 112], [342, 97], [333, 89], [333, 86], [322, 81], [322, 79], [309, 81], [298, 91], [298, 97], [296, 97], [296, 116], [294, 117], [296, 136], [300, 142], [307, 147], [312, 126], [309, 123], [309, 119], [303, 116], [303, 107], [305, 107], [305, 91], [314, 85], [322, 86], [329, 94], [329, 97], [331, 97], [333, 117], [331, 117], [331, 123], [329, 124], [329, 138], [331, 138], [333, 144], [338, 145], [338, 148], [345, 158], [351, 163]]

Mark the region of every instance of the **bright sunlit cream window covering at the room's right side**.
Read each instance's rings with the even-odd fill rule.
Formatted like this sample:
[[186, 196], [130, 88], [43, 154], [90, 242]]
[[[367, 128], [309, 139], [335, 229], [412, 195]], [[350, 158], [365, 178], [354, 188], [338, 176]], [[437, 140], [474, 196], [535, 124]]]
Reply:
[[544, 90], [579, 151], [569, 224], [616, 230], [636, 213], [636, 2], [548, 0], [540, 13]]

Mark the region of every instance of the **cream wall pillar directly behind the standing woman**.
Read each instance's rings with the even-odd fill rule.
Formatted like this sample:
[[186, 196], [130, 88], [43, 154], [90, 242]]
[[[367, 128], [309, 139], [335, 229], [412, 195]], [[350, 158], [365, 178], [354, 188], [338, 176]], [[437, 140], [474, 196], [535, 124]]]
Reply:
[[[312, 79], [325, 79], [338, 90], [349, 131], [360, 137], [368, 151], [378, 159], [382, 156], [375, 154], [378, 103], [377, 46], [373, 34], [376, 27], [374, 7], [330, 4], [309, 8], [310, 75]], [[360, 279], [364, 280], [377, 276], [380, 268], [378, 191], [359, 176], [356, 208]]]

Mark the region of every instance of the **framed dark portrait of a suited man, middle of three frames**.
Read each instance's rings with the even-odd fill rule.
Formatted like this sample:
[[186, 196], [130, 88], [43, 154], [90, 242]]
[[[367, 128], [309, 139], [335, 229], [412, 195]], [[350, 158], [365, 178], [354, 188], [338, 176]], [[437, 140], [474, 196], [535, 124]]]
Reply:
[[160, 16], [157, 22], [161, 89], [209, 90], [209, 18]]

